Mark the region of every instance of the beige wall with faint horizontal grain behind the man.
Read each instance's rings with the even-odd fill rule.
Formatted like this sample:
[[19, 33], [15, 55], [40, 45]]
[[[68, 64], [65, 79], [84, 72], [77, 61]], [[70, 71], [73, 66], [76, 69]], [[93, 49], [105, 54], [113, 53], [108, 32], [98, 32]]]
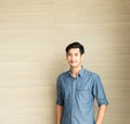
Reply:
[[102, 77], [104, 124], [130, 123], [129, 0], [0, 0], [0, 124], [54, 124], [56, 76], [75, 40]]

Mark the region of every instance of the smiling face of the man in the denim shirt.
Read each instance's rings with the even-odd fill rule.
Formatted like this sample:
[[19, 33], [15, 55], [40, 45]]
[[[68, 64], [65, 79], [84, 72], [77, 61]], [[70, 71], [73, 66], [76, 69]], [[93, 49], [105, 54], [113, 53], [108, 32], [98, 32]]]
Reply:
[[68, 53], [66, 53], [66, 60], [70, 67], [78, 67], [81, 65], [83, 54], [80, 53], [79, 48], [69, 49]]

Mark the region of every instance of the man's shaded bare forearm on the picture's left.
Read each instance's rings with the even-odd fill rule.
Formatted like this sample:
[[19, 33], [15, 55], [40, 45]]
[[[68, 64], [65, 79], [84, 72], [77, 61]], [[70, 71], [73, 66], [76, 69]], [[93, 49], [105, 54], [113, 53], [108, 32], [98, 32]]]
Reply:
[[63, 106], [56, 104], [56, 124], [61, 124]]

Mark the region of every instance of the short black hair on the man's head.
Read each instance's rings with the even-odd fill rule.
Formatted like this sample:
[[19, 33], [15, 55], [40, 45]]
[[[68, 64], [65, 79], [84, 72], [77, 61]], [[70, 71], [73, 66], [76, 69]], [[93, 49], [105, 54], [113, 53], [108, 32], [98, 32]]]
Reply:
[[72, 48], [79, 48], [80, 53], [81, 53], [81, 54], [84, 53], [84, 48], [83, 48], [83, 46], [82, 46], [80, 42], [78, 42], [78, 41], [75, 41], [75, 42], [73, 42], [73, 44], [69, 44], [69, 45], [66, 47], [66, 49], [65, 49], [66, 53], [68, 53], [68, 51], [69, 51]]

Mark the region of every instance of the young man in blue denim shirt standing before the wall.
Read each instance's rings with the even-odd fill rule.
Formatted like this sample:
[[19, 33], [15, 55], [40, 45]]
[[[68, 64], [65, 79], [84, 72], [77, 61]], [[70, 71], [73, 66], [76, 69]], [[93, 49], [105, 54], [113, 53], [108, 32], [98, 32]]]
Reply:
[[[66, 47], [70, 70], [57, 77], [56, 124], [103, 124], [108, 101], [100, 76], [82, 66], [83, 46], [73, 42]], [[93, 115], [96, 99], [99, 113]]]

